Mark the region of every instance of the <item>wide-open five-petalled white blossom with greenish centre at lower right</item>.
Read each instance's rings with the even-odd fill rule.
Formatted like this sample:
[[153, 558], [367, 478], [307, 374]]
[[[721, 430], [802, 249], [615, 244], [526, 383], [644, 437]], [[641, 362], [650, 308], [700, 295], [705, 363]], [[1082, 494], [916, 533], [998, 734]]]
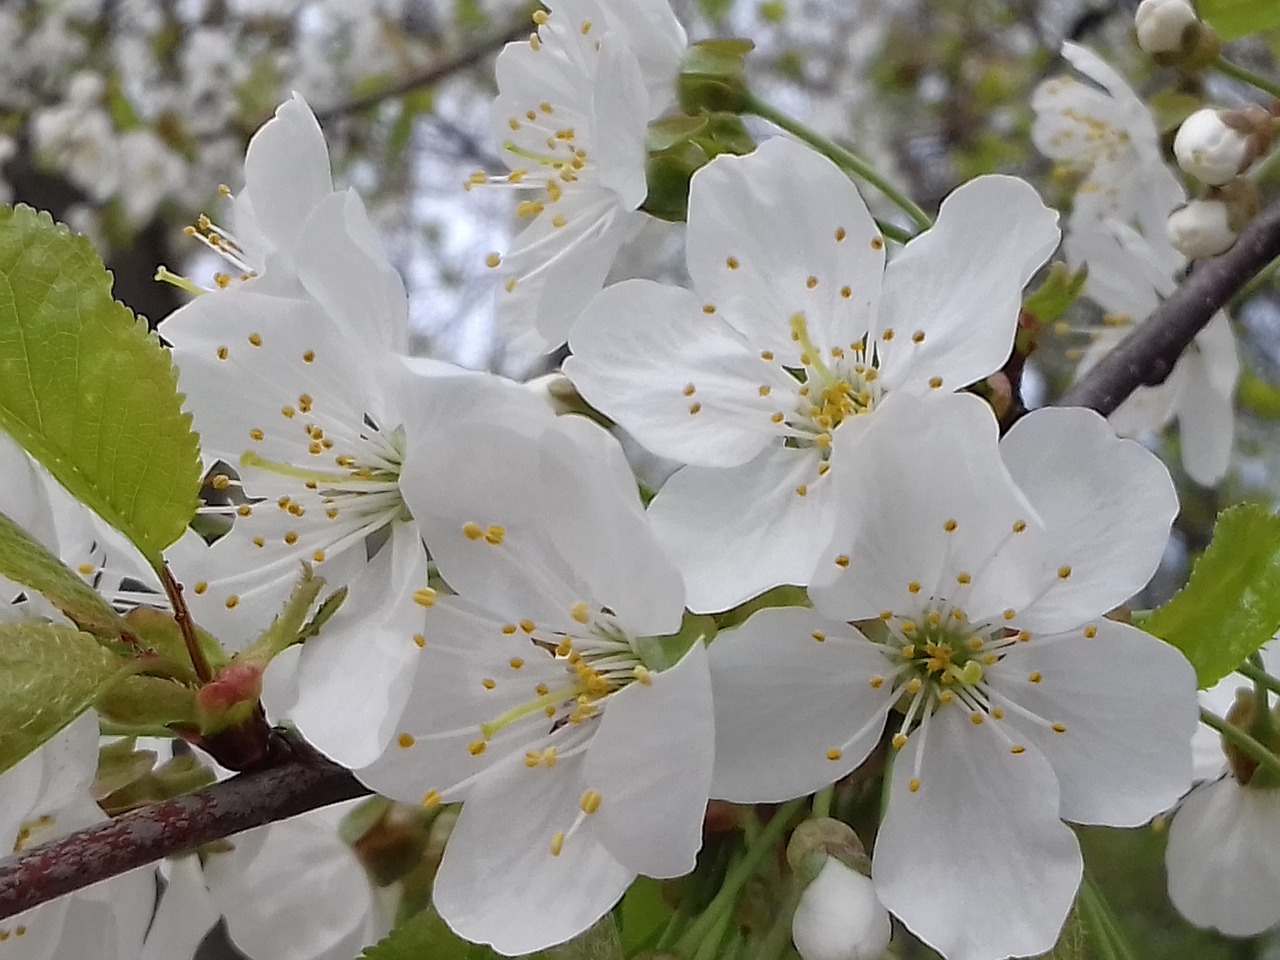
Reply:
[[[890, 453], [902, 436], [914, 456]], [[1096, 413], [1036, 411], [997, 443], [965, 394], [888, 398], [861, 453], [814, 611], [712, 643], [712, 795], [815, 790], [899, 710], [881, 901], [950, 960], [1044, 952], [1080, 879], [1062, 819], [1137, 826], [1190, 782], [1189, 664], [1105, 617], [1155, 571], [1172, 485]]]

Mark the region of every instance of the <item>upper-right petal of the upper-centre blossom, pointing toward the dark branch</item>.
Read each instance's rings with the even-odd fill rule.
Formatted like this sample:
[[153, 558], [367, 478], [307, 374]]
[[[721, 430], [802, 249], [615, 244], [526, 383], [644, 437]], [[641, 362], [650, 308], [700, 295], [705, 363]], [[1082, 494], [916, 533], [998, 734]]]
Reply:
[[955, 390], [998, 370], [1023, 288], [1057, 241], [1057, 214], [1024, 180], [979, 177], [956, 188], [884, 270], [876, 330], [884, 388], [927, 394], [941, 376]]

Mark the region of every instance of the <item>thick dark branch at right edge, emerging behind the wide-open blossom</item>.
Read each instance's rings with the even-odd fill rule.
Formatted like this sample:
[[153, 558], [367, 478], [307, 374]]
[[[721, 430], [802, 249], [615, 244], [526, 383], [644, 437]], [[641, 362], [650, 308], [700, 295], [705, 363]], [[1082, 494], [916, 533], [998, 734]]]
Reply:
[[1280, 201], [1248, 225], [1235, 246], [1196, 265], [1172, 296], [1059, 401], [1108, 416], [1139, 387], [1164, 383], [1187, 346], [1249, 279], [1280, 256]]

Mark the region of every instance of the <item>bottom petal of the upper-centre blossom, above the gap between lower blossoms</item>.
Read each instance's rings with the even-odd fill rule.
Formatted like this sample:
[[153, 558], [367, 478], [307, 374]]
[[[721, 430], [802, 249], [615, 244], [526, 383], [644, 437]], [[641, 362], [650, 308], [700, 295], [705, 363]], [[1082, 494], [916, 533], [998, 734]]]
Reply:
[[685, 467], [667, 480], [649, 516], [685, 576], [689, 609], [724, 611], [809, 581], [836, 503], [810, 451], [777, 444], [740, 467]]

